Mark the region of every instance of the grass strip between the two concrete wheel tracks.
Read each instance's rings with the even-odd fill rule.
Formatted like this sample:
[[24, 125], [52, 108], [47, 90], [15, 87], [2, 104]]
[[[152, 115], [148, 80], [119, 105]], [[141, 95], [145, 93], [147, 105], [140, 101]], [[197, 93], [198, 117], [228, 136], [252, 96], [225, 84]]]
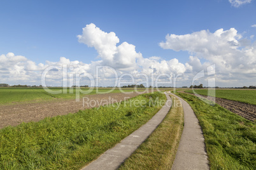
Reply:
[[164, 121], [120, 169], [171, 169], [183, 130], [183, 108], [174, 101]]

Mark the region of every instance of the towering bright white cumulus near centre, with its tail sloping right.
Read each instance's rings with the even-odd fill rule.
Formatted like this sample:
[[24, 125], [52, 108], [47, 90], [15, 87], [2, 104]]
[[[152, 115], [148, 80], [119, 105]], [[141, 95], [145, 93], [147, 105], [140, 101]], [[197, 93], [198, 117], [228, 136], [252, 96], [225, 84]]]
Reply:
[[[158, 56], [143, 58], [136, 51], [136, 46], [122, 42], [117, 46], [119, 39], [114, 32], [104, 32], [90, 23], [83, 28], [82, 35], [77, 36], [78, 42], [94, 47], [99, 54], [98, 65], [107, 65], [120, 71], [120, 73], [150, 74], [154, 65], [155, 74], [172, 74], [185, 72], [185, 65], [176, 58], [161, 60]], [[93, 68], [93, 67], [92, 67]]]

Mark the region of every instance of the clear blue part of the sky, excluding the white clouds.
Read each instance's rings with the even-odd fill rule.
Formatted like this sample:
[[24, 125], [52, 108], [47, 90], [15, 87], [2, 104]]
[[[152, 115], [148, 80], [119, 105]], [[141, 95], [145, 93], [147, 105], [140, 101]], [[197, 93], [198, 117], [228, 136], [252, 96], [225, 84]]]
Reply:
[[[235, 4], [235, 3], [244, 4]], [[232, 4], [233, 3], [233, 4]], [[90, 64], [104, 58], [99, 56], [96, 47], [78, 42], [78, 35], [82, 35], [82, 29], [94, 23], [103, 32], [115, 32], [119, 42], [128, 42], [136, 46], [136, 52], [143, 58], [159, 56], [160, 60], [172, 60], [176, 58], [179, 63], [191, 62], [192, 55], [200, 59], [202, 63], [214, 63], [210, 57], [200, 56], [194, 49], [179, 48], [173, 46], [162, 48], [159, 43], [166, 42], [167, 34], [185, 35], [209, 30], [214, 33], [218, 29], [236, 29], [239, 42], [246, 39], [248, 46], [254, 49], [253, 42], [256, 37], [256, 3], [245, 0], [211, 0], [211, 1], [0, 1], [0, 55], [14, 53], [15, 56], [24, 56], [26, 60], [38, 65], [46, 60], [58, 62], [60, 57], [70, 61]], [[248, 44], [250, 41], [250, 44]], [[173, 42], [173, 41], [172, 41]], [[176, 42], [173, 42], [176, 43]], [[196, 42], [195, 42], [196, 43]], [[176, 51], [175, 51], [176, 50]], [[202, 54], [201, 54], [202, 55]], [[204, 54], [203, 54], [204, 55]], [[252, 64], [255, 57], [250, 56]], [[136, 56], [137, 57], [137, 56]], [[242, 56], [241, 56], [242, 57]], [[23, 61], [23, 60], [22, 60]], [[23, 61], [23, 62], [24, 62]], [[20, 62], [20, 61], [19, 61]], [[4, 63], [2, 69], [4, 70]], [[13, 63], [15, 65], [17, 63]], [[196, 67], [196, 65], [191, 65]], [[206, 64], [205, 64], [206, 66]], [[244, 65], [245, 66], [245, 65]], [[253, 65], [251, 65], [253, 68]], [[139, 67], [143, 67], [139, 65]], [[191, 77], [196, 72], [190, 68], [183, 70]], [[5, 68], [7, 69], [7, 68]], [[232, 68], [231, 68], [232, 69]], [[189, 70], [189, 72], [187, 71]], [[225, 75], [227, 70], [219, 72]], [[245, 74], [246, 74], [246, 70]], [[87, 71], [88, 72], [88, 71]], [[141, 71], [142, 72], [142, 71]], [[218, 72], [218, 71], [217, 71]], [[235, 76], [238, 71], [232, 73]], [[13, 76], [6, 72], [3, 80], [6, 83], [25, 83], [26, 79], [13, 81]], [[250, 72], [255, 76], [254, 70]], [[246, 76], [245, 76], [246, 77]], [[231, 86], [224, 81], [228, 77], [218, 77], [222, 81], [220, 86]], [[243, 79], [244, 77], [241, 77]], [[253, 77], [255, 78], [255, 77]], [[239, 82], [239, 80], [236, 80]], [[40, 84], [38, 80], [27, 84]], [[190, 80], [183, 81], [180, 85], [189, 85]], [[245, 85], [252, 84], [248, 79]], [[54, 83], [53, 83], [54, 84]], [[243, 85], [243, 84], [238, 84]], [[252, 84], [256, 85], [256, 84]]]

